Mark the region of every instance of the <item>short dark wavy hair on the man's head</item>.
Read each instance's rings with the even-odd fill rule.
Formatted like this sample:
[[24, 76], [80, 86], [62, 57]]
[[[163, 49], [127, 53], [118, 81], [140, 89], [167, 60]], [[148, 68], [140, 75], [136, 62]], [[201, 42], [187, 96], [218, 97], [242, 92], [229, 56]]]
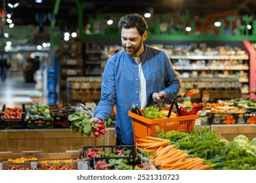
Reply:
[[139, 14], [127, 14], [125, 16], [122, 16], [118, 23], [120, 31], [122, 30], [122, 28], [131, 29], [136, 27], [141, 36], [146, 31], [147, 26], [148, 25], [146, 24], [146, 20], [143, 18], [143, 16], [140, 16]]

